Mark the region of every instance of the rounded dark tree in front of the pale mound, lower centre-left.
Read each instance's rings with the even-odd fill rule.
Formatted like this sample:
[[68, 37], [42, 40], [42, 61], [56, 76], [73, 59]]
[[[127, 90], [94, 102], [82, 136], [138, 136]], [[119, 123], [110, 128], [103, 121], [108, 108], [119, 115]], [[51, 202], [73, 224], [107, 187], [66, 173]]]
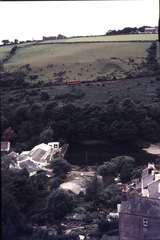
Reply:
[[72, 211], [74, 203], [73, 194], [61, 189], [54, 190], [48, 197], [46, 204], [48, 220], [57, 224], [59, 234], [62, 233], [61, 221]]

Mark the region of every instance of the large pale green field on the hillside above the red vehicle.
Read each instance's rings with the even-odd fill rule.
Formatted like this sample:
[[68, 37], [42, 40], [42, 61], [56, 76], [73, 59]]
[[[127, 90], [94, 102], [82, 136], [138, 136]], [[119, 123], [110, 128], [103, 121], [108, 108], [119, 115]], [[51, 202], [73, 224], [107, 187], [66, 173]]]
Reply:
[[[5, 64], [12, 71], [30, 64], [38, 80], [93, 80], [106, 74], [123, 75], [137, 68], [147, 55], [151, 42], [101, 42], [42, 44], [20, 47]], [[130, 63], [129, 58], [134, 62]]]

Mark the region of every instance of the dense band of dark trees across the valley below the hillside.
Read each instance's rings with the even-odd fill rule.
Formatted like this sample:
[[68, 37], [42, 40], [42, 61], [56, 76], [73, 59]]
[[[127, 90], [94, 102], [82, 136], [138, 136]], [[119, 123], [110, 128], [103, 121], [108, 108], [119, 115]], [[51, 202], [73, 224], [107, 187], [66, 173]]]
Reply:
[[2, 129], [11, 126], [15, 142], [25, 143], [28, 147], [60, 138], [68, 142], [90, 139], [131, 144], [139, 140], [151, 142], [160, 137], [159, 109], [159, 103], [145, 106], [131, 99], [120, 103], [109, 101], [103, 108], [31, 103], [4, 109]]

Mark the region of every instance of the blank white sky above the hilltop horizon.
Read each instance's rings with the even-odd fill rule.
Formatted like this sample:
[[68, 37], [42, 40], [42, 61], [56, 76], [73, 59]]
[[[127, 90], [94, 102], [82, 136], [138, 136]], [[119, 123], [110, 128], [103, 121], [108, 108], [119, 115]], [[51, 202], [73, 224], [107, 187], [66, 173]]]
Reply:
[[0, 41], [157, 26], [159, 0], [0, 2]]

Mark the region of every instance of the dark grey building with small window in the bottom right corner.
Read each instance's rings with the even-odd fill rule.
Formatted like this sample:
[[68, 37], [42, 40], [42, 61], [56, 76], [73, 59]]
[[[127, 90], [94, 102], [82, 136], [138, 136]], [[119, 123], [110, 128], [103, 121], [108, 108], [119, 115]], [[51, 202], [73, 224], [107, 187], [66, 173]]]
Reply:
[[160, 200], [127, 196], [119, 208], [120, 240], [160, 240]]

